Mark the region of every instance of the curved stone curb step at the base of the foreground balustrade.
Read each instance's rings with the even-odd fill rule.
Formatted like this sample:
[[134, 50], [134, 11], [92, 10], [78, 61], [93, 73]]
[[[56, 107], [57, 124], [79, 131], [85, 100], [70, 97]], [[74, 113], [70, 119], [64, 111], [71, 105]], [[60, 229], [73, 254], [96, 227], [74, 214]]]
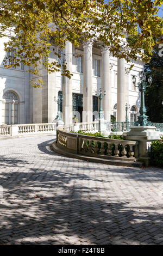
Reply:
[[127, 167], [141, 167], [142, 166], [142, 163], [140, 163], [140, 162], [127, 162], [127, 161], [120, 161], [120, 160], [112, 161], [109, 159], [101, 159], [98, 157], [91, 157], [91, 156], [84, 156], [84, 155], [80, 155], [80, 154], [68, 153], [68, 152], [58, 148], [56, 141], [54, 141], [52, 143], [52, 149], [57, 154], [68, 156], [68, 157], [71, 157], [74, 159], [89, 161], [89, 162], [104, 163], [104, 164], [110, 164], [110, 165], [114, 165], [114, 166], [127, 166]]

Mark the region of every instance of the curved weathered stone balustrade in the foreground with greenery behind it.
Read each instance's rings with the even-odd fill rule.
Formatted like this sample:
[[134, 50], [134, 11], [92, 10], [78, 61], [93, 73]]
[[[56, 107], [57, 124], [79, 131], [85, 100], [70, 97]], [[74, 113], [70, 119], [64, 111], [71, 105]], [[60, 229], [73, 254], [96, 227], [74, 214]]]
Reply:
[[136, 161], [139, 156], [137, 141], [100, 138], [57, 130], [57, 145], [69, 153], [114, 160]]

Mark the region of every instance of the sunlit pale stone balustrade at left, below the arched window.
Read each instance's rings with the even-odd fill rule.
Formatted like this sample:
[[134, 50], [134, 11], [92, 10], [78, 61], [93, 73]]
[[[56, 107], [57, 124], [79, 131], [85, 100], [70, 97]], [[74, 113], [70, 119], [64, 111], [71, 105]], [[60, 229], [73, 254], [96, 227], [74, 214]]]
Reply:
[[17, 125], [1, 125], [0, 137], [4, 136], [22, 136], [39, 133], [53, 133], [56, 131], [55, 123], [47, 124], [17, 124]]

